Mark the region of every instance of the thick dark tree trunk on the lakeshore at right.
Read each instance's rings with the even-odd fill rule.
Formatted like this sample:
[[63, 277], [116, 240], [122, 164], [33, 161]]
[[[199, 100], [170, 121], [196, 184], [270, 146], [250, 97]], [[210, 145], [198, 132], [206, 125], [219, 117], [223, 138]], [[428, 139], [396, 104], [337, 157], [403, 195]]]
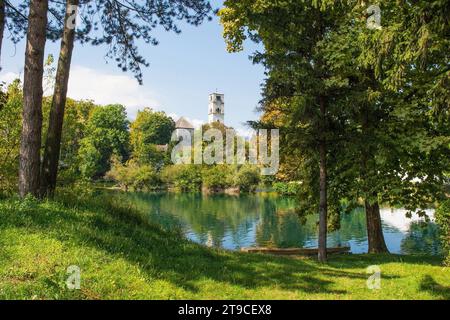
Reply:
[[378, 202], [370, 204], [365, 201], [367, 240], [369, 242], [369, 253], [389, 252], [384, 241], [383, 228], [381, 225], [380, 206]]

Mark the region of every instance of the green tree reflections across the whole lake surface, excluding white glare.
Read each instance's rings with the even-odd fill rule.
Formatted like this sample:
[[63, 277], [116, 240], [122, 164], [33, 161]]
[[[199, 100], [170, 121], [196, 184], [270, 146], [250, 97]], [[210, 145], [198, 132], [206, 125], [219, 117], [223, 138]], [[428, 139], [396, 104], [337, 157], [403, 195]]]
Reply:
[[[317, 216], [302, 224], [294, 211], [295, 200], [268, 195], [205, 196], [202, 194], [129, 193], [131, 200], [149, 219], [165, 229], [185, 227], [196, 241], [214, 246], [238, 248], [258, 246], [315, 246]], [[120, 198], [119, 198], [120, 199]], [[401, 233], [398, 235], [402, 237]], [[329, 234], [329, 246], [346, 245], [349, 240], [366, 241], [364, 210], [342, 215], [341, 228]], [[224, 242], [226, 241], [226, 242]], [[364, 245], [364, 244], [363, 244]], [[402, 240], [402, 253], [438, 253], [437, 227], [411, 224]]]

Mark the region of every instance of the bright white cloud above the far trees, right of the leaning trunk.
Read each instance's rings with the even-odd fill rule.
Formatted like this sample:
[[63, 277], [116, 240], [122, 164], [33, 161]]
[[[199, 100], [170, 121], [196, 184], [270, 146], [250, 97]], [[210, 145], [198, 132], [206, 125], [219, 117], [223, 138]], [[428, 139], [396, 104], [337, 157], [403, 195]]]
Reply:
[[102, 73], [83, 66], [72, 67], [67, 95], [77, 100], [93, 100], [97, 104], [122, 104], [132, 119], [144, 107], [160, 109], [154, 95], [133, 77]]

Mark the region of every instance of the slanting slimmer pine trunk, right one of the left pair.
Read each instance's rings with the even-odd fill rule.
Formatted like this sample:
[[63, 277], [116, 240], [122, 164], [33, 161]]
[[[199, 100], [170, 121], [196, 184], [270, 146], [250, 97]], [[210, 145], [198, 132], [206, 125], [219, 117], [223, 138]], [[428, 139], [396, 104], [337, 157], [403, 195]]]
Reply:
[[55, 90], [50, 109], [47, 140], [45, 142], [44, 160], [41, 170], [41, 195], [43, 197], [53, 196], [56, 187], [64, 110], [75, 41], [75, 26], [69, 20], [73, 18], [74, 6], [78, 6], [78, 4], [79, 0], [68, 0], [66, 4], [64, 33], [61, 39]]

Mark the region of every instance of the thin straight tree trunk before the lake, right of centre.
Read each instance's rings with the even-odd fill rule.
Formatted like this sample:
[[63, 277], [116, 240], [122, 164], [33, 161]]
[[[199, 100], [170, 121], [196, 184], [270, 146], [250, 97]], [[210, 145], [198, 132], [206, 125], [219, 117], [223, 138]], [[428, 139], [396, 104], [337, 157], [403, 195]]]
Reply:
[[327, 145], [325, 141], [324, 129], [326, 121], [326, 107], [325, 101], [320, 98], [320, 114], [322, 122], [322, 132], [319, 142], [319, 250], [318, 259], [319, 262], [327, 261]]

